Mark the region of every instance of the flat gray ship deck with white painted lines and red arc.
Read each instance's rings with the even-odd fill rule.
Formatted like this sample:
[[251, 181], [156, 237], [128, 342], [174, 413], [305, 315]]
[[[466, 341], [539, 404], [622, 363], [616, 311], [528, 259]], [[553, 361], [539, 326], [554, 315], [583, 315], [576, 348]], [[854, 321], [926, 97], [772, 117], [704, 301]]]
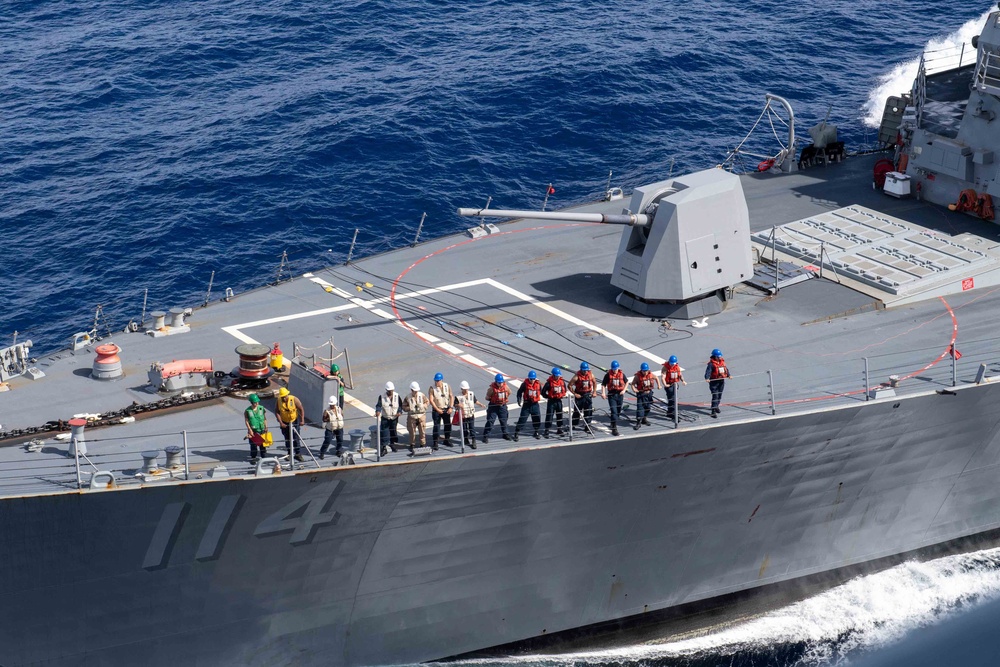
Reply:
[[[793, 174], [743, 177], [752, 231], [862, 206], [996, 254], [996, 226], [872, 190], [871, 165], [877, 157]], [[600, 202], [582, 208], [618, 213], [621, 206]], [[890, 308], [844, 281], [812, 279], [775, 295], [741, 285], [723, 313], [709, 317], [706, 326], [695, 326], [650, 320], [615, 303], [618, 291], [609, 279], [621, 229], [537, 220], [498, 227], [498, 233], [484, 238], [440, 238], [214, 302], [194, 310], [187, 333], [116, 334], [110, 340], [121, 347], [125, 370], [119, 380], [89, 376], [94, 358], [90, 348], [39, 359], [36, 366], [45, 377], [15, 378], [10, 391], [0, 392], [2, 429], [9, 432], [158, 400], [162, 396], [146, 387], [151, 363], [212, 358], [216, 369], [228, 371], [237, 365], [234, 348], [247, 342], [277, 341], [286, 354], [297, 349], [310, 365], [313, 356], [327, 362], [332, 344], [332, 356], [349, 369], [352, 380], [345, 431], [361, 429], [366, 434], [375, 423], [373, 406], [387, 380], [400, 390], [416, 380], [426, 390], [436, 372], [456, 391], [460, 381], [468, 380], [482, 400], [497, 372], [516, 380], [534, 369], [544, 378], [551, 367], [561, 366], [568, 376], [585, 360], [600, 379], [617, 359], [631, 376], [641, 362], [656, 369], [675, 354], [689, 383], [680, 390], [679, 423], [666, 420], [665, 406], [658, 402], [650, 427], [669, 435], [675, 428], [714, 428], [865, 401], [870, 398], [866, 368], [871, 387], [896, 376], [897, 396], [950, 389], [956, 381], [969, 384], [980, 364], [987, 364], [987, 373], [998, 370], [992, 313], [1000, 305], [1000, 294], [982, 283], [963, 290], [956, 280], [930, 298]], [[962, 353], [957, 361], [949, 354], [953, 344]], [[716, 347], [725, 352], [733, 372], [719, 419], [709, 415], [708, 388], [702, 381], [708, 353]], [[876, 400], [888, 395], [883, 389]], [[657, 396], [662, 399], [662, 391]], [[273, 403], [264, 401], [272, 428]], [[612, 438], [606, 403], [597, 398], [594, 404], [594, 432], [577, 431], [572, 441], [566, 436], [535, 440], [529, 426], [520, 442], [513, 443], [494, 430], [489, 445], [475, 452], [463, 453], [456, 437], [455, 446], [433, 457], [454, 458], [460, 464], [462, 456], [517, 447], [585, 447], [594, 439]], [[631, 416], [634, 408], [629, 404], [626, 401], [625, 414]], [[242, 425], [245, 405], [244, 398], [228, 396], [143, 414], [132, 423], [88, 429], [82, 477], [86, 482], [95, 469], [108, 470], [120, 486], [139, 485], [134, 474], [142, 464], [140, 452], [182, 445], [185, 437], [192, 477], [205, 477], [219, 466], [231, 476], [253, 474]], [[511, 431], [517, 415], [512, 405]], [[483, 413], [478, 413], [480, 431], [483, 421]], [[403, 443], [404, 430], [401, 426]], [[430, 430], [428, 424], [428, 437]], [[625, 425], [619, 439], [634, 433]], [[41, 441], [33, 448], [37, 451], [20, 446], [26, 438], [0, 446], [0, 496], [76, 489], [75, 461], [67, 455], [67, 442], [54, 435], [36, 436]], [[318, 454], [320, 428], [307, 425], [303, 435]], [[275, 446], [283, 450], [278, 440]], [[404, 447], [376, 461], [368, 447], [355, 465], [405, 465], [412, 460]], [[296, 465], [309, 471], [336, 462], [310, 456]], [[142, 483], [175, 478], [164, 474]]]

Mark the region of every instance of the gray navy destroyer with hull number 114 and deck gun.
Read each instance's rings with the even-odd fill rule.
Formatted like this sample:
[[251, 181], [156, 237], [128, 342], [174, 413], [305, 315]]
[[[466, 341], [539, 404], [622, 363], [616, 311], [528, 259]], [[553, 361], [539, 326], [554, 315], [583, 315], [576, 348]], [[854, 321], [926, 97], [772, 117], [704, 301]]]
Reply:
[[[464, 236], [124, 331], [95, 318], [39, 358], [0, 350], [0, 664], [558, 650], [995, 545], [998, 21], [921, 63], [875, 154], [845, 157], [825, 123], [803, 145], [790, 117], [748, 173], [463, 209], [482, 218]], [[618, 435], [600, 398], [589, 426], [475, 449], [456, 428], [411, 454], [377, 428], [387, 382], [440, 373], [482, 399], [498, 374], [670, 356], [688, 380], [672, 418], [662, 391], [648, 426], [630, 397]], [[342, 383], [349, 442], [320, 458]], [[282, 456], [281, 389], [302, 403], [301, 460]], [[276, 438], [253, 462], [251, 394]]]

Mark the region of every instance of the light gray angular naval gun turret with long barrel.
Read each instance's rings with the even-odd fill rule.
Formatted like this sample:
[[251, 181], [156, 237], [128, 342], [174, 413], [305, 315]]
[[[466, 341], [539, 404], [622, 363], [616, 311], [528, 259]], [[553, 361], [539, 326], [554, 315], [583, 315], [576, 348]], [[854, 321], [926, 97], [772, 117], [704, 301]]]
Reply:
[[475, 217], [625, 225], [611, 284], [616, 301], [649, 317], [714, 315], [753, 276], [750, 213], [738, 176], [706, 169], [637, 187], [620, 215], [460, 208]]

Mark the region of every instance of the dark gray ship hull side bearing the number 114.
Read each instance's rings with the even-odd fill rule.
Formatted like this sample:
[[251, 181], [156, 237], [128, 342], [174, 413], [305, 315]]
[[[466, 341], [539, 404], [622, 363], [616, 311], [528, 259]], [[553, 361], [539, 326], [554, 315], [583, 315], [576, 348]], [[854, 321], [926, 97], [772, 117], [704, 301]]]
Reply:
[[877, 565], [1000, 527], [998, 401], [11, 498], [0, 664], [419, 662]]

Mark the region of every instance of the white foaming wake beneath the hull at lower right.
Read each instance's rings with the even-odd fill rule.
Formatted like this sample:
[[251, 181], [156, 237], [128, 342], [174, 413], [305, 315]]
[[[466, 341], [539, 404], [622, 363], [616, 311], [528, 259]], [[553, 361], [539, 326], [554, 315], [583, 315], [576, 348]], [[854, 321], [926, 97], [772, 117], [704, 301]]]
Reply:
[[[846, 665], [923, 627], [1000, 598], [1000, 549], [909, 562], [728, 627], [680, 641], [462, 665], [759, 667]], [[455, 663], [452, 663], [455, 664]]]

